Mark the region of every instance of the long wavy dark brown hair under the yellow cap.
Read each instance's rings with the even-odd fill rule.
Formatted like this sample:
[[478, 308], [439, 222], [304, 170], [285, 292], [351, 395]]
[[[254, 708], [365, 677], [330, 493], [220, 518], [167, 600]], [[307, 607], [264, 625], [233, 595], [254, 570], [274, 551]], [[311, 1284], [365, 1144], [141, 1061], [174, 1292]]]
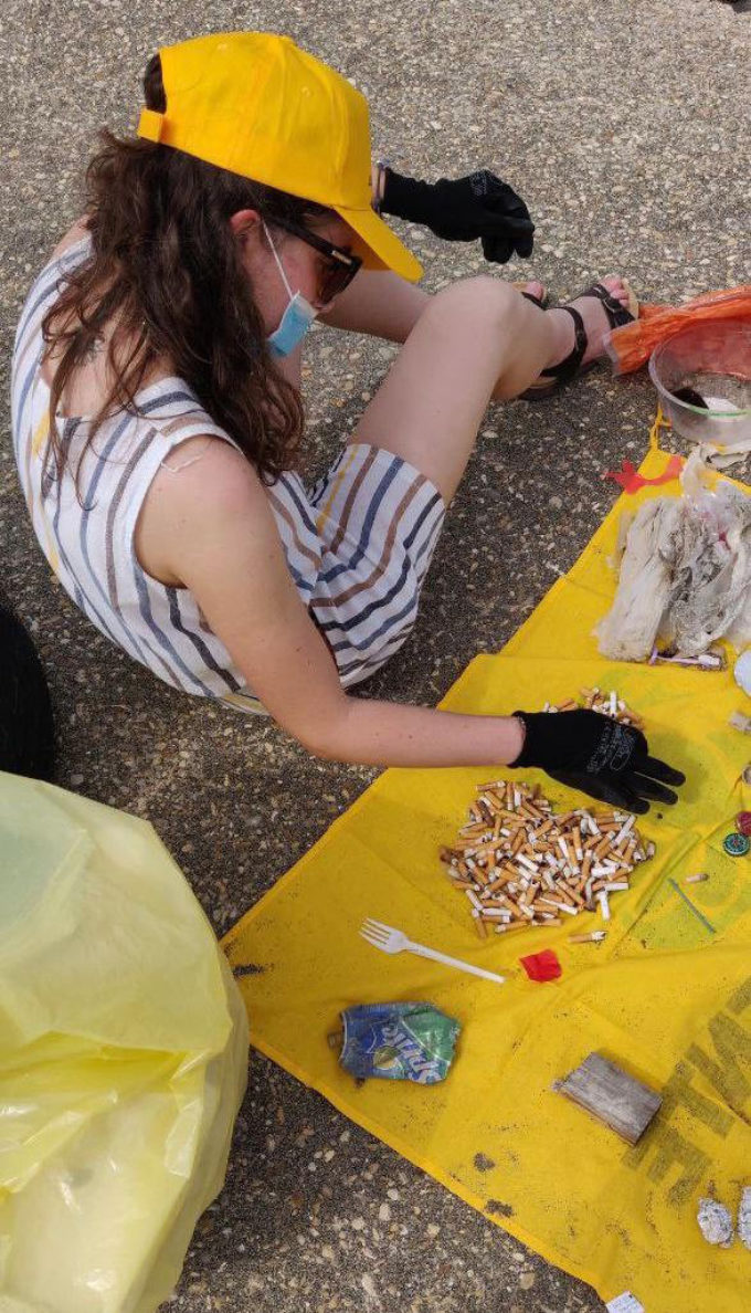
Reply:
[[[143, 89], [147, 108], [164, 112], [159, 55], [147, 64]], [[273, 482], [295, 462], [302, 402], [268, 352], [228, 219], [255, 209], [269, 226], [274, 219], [299, 225], [331, 211], [169, 146], [109, 131], [101, 140], [87, 169], [91, 255], [66, 276], [43, 322], [47, 352], [59, 352], [47, 460], [54, 457], [62, 478], [68, 441], [55, 421], [60, 398], [113, 322], [108, 365], [114, 382], [85, 446], [108, 415], [138, 414], [147, 370], [167, 357], [259, 475]]]

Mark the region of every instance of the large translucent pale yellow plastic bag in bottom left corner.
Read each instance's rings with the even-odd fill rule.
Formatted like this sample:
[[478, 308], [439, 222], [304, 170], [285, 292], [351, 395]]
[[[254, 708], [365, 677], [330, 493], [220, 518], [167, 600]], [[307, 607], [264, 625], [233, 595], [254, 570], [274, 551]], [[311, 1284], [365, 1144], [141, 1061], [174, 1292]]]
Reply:
[[222, 1187], [244, 1008], [143, 821], [0, 773], [0, 1309], [151, 1313]]

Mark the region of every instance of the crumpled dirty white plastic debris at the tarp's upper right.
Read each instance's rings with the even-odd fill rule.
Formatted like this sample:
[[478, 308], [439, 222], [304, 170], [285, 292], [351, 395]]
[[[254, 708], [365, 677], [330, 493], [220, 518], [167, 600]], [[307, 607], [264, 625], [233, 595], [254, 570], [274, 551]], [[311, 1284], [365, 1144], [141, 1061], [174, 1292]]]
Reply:
[[730, 483], [704, 484], [698, 450], [683, 496], [639, 507], [626, 534], [618, 588], [597, 626], [616, 660], [646, 660], [658, 639], [698, 656], [721, 638], [751, 643], [751, 498]]

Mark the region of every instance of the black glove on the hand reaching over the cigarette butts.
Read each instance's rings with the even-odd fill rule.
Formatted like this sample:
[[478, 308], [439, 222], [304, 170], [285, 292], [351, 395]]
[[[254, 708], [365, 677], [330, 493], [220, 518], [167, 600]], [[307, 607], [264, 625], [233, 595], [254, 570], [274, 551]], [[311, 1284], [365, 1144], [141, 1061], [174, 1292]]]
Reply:
[[685, 775], [650, 756], [645, 735], [632, 725], [587, 710], [513, 714], [526, 731], [513, 767], [538, 765], [561, 784], [626, 811], [649, 811], [647, 798], [677, 802], [666, 784], [683, 784]]

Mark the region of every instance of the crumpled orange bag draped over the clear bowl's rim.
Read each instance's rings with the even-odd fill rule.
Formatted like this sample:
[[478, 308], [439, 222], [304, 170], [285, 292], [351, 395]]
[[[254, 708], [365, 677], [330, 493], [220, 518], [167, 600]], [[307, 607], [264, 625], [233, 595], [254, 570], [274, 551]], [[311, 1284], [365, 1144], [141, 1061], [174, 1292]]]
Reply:
[[616, 374], [630, 374], [646, 365], [655, 347], [687, 324], [719, 319], [744, 319], [751, 324], [751, 282], [725, 291], [705, 291], [684, 306], [642, 305], [639, 318], [605, 337], [605, 349]]

